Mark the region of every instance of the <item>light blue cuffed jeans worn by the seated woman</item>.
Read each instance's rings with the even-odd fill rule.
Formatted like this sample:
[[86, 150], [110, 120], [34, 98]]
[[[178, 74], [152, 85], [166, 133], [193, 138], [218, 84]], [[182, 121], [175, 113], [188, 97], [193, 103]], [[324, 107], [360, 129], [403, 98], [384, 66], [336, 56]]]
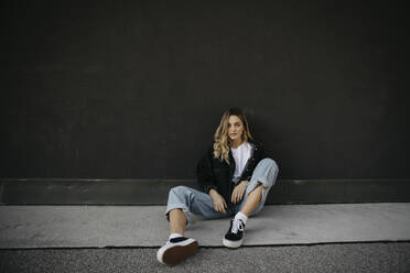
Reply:
[[171, 188], [168, 198], [166, 211], [164, 214], [165, 219], [169, 220], [169, 212], [175, 208], [182, 209], [182, 211], [185, 214], [188, 225], [193, 223], [192, 214], [202, 216], [206, 219], [231, 217], [240, 211], [249, 193], [252, 192], [259, 184], [262, 184], [262, 199], [251, 212], [251, 216], [253, 216], [258, 214], [265, 206], [268, 193], [277, 181], [278, 172], [278, 165], [273, 160], [261, 160], [252, 173], [252, 177], [250, 178], [242, 200], [235, 207], [226, 209], [226, 215], [214, 209], [209, 195], [186, 186], [173, 187]]

